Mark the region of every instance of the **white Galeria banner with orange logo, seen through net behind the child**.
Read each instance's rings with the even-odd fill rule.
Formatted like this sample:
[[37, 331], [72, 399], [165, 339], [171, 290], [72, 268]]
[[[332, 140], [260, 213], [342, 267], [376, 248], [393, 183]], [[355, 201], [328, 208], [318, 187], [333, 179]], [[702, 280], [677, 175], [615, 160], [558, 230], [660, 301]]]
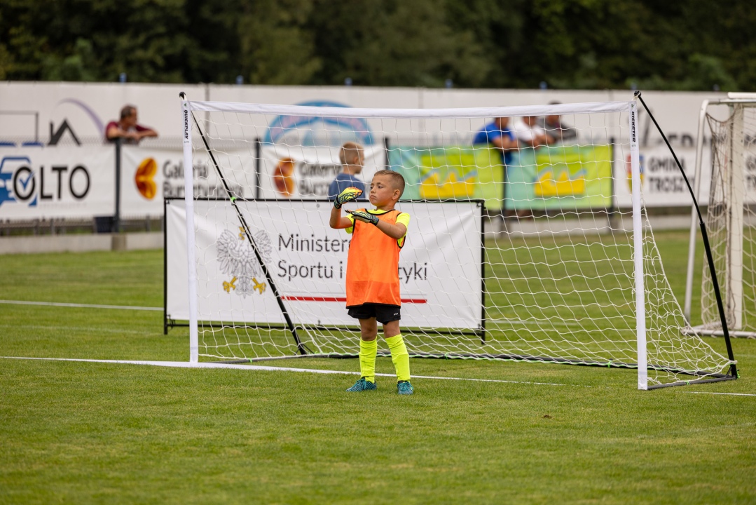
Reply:
[[[262, 145], [261, 198], [327, 198], [328, 186], [341, 172], [339, 147]], [[364, 167], [356, 176], [370, 189], [377, 170], [386, 168], [383, 145], [364, 146]]]

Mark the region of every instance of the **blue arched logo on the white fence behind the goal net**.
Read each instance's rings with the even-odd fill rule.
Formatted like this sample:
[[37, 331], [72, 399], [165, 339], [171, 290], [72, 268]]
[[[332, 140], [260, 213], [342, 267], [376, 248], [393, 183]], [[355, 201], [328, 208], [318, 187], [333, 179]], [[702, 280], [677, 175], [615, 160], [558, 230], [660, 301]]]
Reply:
[[[309, 107], [349, 107], [335, 101], [305, 101]], [[373, 133], [360, 117], [277, 116], [268, 125], [265, 144], [338, 147], [344, 142], [373, 145]]]

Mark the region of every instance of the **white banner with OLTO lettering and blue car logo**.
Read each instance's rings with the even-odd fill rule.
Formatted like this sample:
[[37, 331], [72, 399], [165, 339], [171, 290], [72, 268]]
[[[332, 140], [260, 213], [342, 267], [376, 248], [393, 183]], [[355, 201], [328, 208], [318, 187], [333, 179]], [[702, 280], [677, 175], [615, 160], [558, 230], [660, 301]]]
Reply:
[[0, 219], [112, 216], [115, 150], [38, 146], [0, 150]]

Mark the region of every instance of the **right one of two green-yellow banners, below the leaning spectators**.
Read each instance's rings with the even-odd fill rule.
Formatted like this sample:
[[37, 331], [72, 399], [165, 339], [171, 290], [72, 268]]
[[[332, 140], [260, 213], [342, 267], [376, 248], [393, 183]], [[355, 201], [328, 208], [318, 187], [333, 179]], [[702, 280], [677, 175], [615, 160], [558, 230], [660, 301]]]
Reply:
[[507, 166], [507, 210], [612, 206], [609, 145], [521, 149]]

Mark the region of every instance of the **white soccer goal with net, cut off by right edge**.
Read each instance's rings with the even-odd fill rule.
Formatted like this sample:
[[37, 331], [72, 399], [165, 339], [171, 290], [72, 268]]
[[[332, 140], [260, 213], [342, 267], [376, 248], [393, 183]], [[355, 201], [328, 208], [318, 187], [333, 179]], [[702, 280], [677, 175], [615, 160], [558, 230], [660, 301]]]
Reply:
[[[706, 135], [706, 132], [710, 137]], [[710, 139], [710, 140], [709, 140]], [[706, 228], [730, 335], [756, 338], [756, 93], [730, 93], [704, 101], [696, 145], [696, 194], [705, 142], [711, 145]], [[701, 174], [701, 176], [699, 176]], [[697, 197], [700, 198], [700, 197]], [[691, 317], [698, 217], [692, 213], [684, 313]], [[702, 335], [722, 335], [722, 323], [706, 258], [701, 288]]]

